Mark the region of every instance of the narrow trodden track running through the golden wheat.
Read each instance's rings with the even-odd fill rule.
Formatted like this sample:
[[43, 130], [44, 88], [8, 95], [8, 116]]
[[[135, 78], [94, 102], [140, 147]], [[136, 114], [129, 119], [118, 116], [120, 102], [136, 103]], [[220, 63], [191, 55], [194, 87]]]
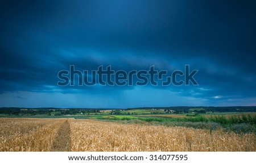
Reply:
[[66, 120], [60, 127], [55, 140], [53, 141], [51, 151], [68, 152], [70, 151], [69, 123]]

